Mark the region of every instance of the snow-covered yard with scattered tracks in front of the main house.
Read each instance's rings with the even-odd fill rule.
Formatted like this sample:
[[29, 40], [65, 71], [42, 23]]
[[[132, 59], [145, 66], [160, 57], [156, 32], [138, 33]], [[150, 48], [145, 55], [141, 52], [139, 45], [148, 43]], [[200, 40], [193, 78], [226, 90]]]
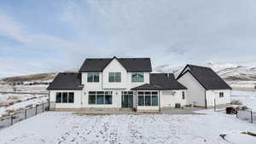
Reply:
[[[189, 143], [244, 144], [256, 137], [238, 134], [256, 130], [255, 124], [224, 113], [206, 115], [75, 115], [71, 112], [44, 112], [0, 131], [0, 143]], [[22, 131], [22, 132], [20, 132]], [[236, 134], [237, 132], [237, 134]], [[235, 137], [235, 138], [234, 138]], [[240, 138], [237, 141], [236, 138]]]

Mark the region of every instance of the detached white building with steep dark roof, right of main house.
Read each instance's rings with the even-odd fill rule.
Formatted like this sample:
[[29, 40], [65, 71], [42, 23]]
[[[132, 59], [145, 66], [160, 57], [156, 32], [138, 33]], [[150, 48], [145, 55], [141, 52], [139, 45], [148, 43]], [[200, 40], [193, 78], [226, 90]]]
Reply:
[[230, 86], [209, 67], [187, 65], [177, 81], [188, 88], [187, 104], [214, 107], [230, 103]]

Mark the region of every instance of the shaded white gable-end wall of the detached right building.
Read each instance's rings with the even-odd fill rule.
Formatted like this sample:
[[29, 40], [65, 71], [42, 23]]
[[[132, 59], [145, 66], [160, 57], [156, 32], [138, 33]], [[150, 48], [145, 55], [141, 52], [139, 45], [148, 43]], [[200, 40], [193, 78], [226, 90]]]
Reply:
[[206, 106], [206, 89], [189, 72], [177, 79], [177, 81], [188, 88], [186, 99], [187, 104], [193, 104], [198, 107]]

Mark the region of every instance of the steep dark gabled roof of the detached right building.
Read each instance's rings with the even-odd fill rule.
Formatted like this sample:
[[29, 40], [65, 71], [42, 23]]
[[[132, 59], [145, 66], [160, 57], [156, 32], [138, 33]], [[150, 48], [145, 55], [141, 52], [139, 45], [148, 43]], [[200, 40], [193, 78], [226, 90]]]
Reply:
[[[189, 66], [189, 70], [184, 70]], [[189, 72], [205, 89], [232, 89], [229, 84], [226, 84], [222, 78], [210, 67], [187, 65], [177, 79], [183, 77]]]

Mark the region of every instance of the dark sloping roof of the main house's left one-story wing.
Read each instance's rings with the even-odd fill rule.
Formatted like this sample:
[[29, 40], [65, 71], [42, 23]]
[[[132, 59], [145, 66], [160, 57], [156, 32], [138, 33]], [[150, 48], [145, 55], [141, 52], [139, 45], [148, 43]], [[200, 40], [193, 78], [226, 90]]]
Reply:
[[81, 75], [77, 72], [59, 73], [47, 89], [83, 89]]

